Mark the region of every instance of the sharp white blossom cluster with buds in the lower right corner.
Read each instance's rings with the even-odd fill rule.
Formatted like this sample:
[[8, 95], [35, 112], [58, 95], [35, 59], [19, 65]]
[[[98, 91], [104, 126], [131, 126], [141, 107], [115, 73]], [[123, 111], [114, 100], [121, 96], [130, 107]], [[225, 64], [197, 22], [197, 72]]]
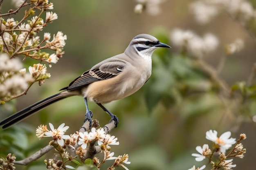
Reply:
[[[240, 134], [240, 138], [236, 141], [235, 138], [230, 137], [231, 132], [224, 132], [220, 137], [217, 136], [218, 132], [216, 130], [209, 130], [206, 132], [206, 139], [213, 142], [213, 149], [209, 148], [208, 144], [204, 144], [202, 147], [197, 146], [195, 150], [198, 153], [193, 153], [192, 156], [195, 157], [195, 161], [203, 161], [205, 158], [209, 159], [209, 162], [213, 166], [212, 170], [223, 168], [225, 170], [230, 170], [233, 167], [236, 167], [236, 164], [233, 164], [233, 159], [228, 159], [231, 157], [243, 158], [246, 149], [243, 148], [243, 144], [240, 143], [241, 140], [246, 139], [245, 134]], [[227, 150], [231, 148], [232, 145], [235, 146], [231, 152], [227, 153]], [[213, 156], [218, 156], [218, 161], [213, 161]], [[203, 170], [206, 166], [203, 165], [200, 168], [195, 168], [193, 166], [189, 170]]]

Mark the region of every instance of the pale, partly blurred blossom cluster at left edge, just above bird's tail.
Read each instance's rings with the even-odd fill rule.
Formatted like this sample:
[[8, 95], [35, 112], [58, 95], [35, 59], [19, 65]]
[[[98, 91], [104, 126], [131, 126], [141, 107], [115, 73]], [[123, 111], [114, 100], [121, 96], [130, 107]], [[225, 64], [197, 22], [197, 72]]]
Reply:
[[7, 53], [0, 53], [0, 101], [7, 101], [26, 91], [36, 81], [42, 84], [51, 76], [45, 64], [29, 66], [29, 73], [22, 67], [18, 58], [9, 59]]

